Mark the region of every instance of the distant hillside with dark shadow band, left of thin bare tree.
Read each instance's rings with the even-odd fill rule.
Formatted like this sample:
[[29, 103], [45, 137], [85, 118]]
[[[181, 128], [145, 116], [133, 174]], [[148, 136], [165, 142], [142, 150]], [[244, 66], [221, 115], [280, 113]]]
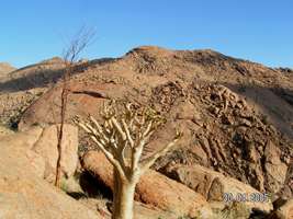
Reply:
[[63, 73], [63, 59], [55, 57], [26, 66], [0, 78], [0, 123], [16, 126], [20, 115]]

